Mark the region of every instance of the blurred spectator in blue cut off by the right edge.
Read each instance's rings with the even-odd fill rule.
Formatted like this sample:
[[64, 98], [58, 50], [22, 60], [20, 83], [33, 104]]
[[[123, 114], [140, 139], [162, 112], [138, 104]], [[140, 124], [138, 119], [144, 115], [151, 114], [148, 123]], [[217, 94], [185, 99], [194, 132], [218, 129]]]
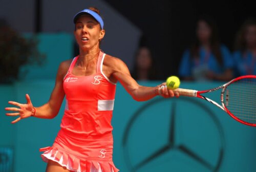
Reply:
[[236, 75], [256, 75], [256, 19], [249, 18], [241, 26], [236, 37]]

